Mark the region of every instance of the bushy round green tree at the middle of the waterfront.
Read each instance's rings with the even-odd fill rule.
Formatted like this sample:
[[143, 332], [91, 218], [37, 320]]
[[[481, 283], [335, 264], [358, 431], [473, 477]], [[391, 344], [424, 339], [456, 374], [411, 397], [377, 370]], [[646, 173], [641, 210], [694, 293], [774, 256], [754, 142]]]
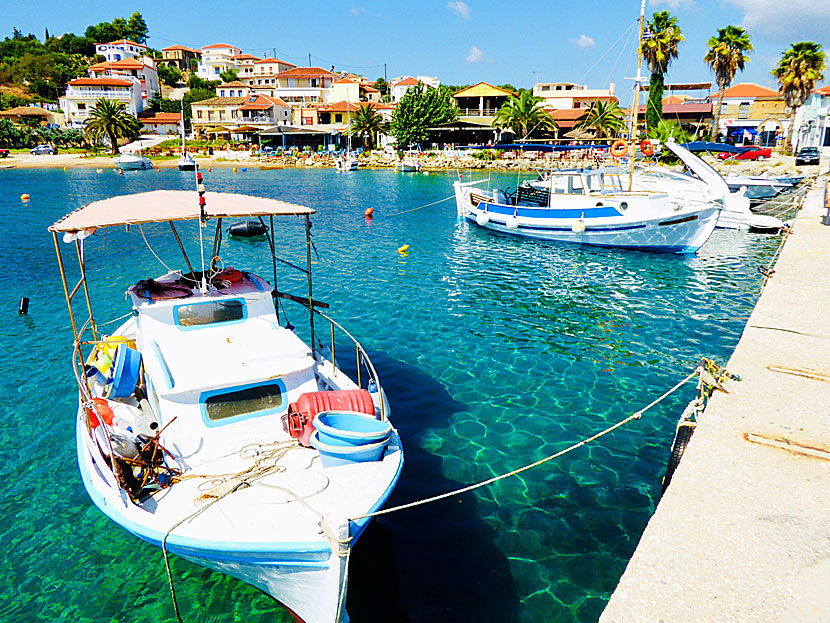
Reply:
[[429, 128], [457, 118], [458, 107], [447, 90], [425, 88], [419, 82], [401, 97], [389, 131], [401, 148], [426, 141]]

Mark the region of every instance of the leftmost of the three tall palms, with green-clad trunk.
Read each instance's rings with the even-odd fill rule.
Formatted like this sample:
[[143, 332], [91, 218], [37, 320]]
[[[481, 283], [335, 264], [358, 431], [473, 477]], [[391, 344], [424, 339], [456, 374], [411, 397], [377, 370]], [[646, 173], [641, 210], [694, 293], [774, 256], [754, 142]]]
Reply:
[[648, 87], [646, 126], [651, 129], [663, 118], [663, 80], [672, 59], [677, 58], [677, 46], [683, 41], [677, 18], [668, 11], [656, 11], [646, 24], [643, 35], [643, 60], [648, 63], [651, 81]]

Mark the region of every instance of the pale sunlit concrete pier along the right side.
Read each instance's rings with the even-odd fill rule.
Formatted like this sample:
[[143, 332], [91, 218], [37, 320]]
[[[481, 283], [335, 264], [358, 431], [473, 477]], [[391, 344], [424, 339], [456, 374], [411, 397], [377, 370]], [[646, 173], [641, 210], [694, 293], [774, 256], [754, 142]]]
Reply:
[[823, 179], [600, 623], [830, 621]]

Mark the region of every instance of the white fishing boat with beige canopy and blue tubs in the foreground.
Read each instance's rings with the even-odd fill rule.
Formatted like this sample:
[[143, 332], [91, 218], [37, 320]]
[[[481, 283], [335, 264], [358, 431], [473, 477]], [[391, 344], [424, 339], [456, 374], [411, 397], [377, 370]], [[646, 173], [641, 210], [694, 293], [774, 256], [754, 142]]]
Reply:
[[[248, 582], [306, 623], [345, 621], [351, 549], [403, 466], [389, 404], [366, 351], [312, 298], [315, 211], [205, 193], [201, 180], [198, 188], [96, 201], [49, 228], [74, 336], [84, 487], [102, 513], [161, 547], [166, 561], [176, 554]], [[279, 217], [305, 222], [307, 265], [278, 258], [269, 235], [272, 283], [278, 262], [298, 269], [308, 282], [301, 296], [253, 272], [223, 267], [229, 259], [222, 257], [223, 219], [270, 219], [274, 232]], [[199, 271], [181, 243], [183, 220], [198, 224]], [[164, 221], [187, 268], [125, 284], [132, 314], [103, 334], [86, 269], [99, 257], [113, 260], [99, 256], [90, 236]], [[79, 262], [74, 287], [67, 283], [61, 238]], [[284, 309], [280, 317], [282, 301], [304, 305], [308, 343]], [[356, 353], [356, 379], [337, 367], [335, 330]], [[332, 341], [323, 346], [329, 334]]]

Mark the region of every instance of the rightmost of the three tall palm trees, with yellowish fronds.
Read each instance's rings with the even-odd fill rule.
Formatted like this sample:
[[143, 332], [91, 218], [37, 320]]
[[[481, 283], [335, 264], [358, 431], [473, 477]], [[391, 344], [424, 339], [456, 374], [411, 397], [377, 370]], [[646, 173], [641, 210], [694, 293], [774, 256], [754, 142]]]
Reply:
[[778, 78], [778, 90], [790, 109], [790, 129], [787, 131], [787, 142], [784, 144], [784, 149], [788, 153], [792, 152], [793, 148], [795, 110], [807, 101], [816, 82], [824, 78], [823, 72], [826, 67], [821, 44], [801, 41], [793, 43], [789, 50], [782, 52], [781, 60], [771, 72]]

